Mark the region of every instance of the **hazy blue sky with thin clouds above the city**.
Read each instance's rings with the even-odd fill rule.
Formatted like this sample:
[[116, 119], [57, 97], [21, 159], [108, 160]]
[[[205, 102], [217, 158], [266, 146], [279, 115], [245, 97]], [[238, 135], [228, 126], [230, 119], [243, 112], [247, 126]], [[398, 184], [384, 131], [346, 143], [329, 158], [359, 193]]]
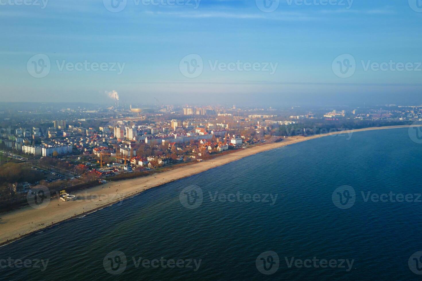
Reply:
[[[19, 1], [0, 0], [2, 101], [107, 103], [115, 90], [134, 104], [422, 103], [422, 0], [265, 0], [272, 12], [264, 0], [124, 0], [119, 12], [111, 0]], [[37, 54], [50, 60], [42, 78]], [[356, 63], [342, 78], [345, 54]], [[408, 69], [365, 70], [374, 62]]]

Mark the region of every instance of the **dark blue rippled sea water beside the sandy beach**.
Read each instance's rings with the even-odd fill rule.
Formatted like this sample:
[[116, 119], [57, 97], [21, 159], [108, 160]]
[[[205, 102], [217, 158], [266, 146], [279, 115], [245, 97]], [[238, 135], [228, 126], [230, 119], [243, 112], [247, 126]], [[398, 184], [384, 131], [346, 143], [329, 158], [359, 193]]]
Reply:
[[[41, 268], [0, 268], [0, 279], [419, 280], [408, 260], [422, 251], [422, 198], [414, 195], [422, 193], [421, 161], [422, 145], [407, 129], [260, 153], [3, 246], [0, 262], [48, 264], [46, 270], [41, 262]], [[345, 205], [333, 203], [344, 185], [349, 193], [343, 188], [341, 195], [352, 196], [352, 188], [356, 195], [347, 203], [344, 197]], [[366, 200], [368, 192], [384, 202]], [[413, 201], [385, 200], [390, 192]], [[183, 260], [184, 267], [148, 268], [161, 257]], [[333, 268], [305, 261], [314, 257], [334, 260]], [[353, 265], [339, 267], [342, 260]]]

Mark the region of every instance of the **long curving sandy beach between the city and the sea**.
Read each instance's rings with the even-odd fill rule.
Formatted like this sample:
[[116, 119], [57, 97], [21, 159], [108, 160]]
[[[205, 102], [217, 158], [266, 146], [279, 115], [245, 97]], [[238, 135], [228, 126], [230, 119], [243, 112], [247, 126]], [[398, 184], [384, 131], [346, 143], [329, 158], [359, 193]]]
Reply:
[[282, 142], [270, 143], [255, 146], [248, 149], [237, 150], [233, 153], [222, 155], [208, 161], [176, 167], [169, 171], [153, 174], [147, 177], [135, 179], [126, 179], [118, 182], [107, 183], [87, 190], [82, 190], [77, 195], [78, 200], [64, 202], [60, 199], [51, 199], [49, 204], [43, 209], [34, 209], [31, 206], [24, 207], [19, 210], [1, 213], [0, 217], [0, 245], [10, 243], [16, 239], [22, 238], [30, 233], [39, 232], [46, 227], [51, 227], [59, 222], [68, 219], [80, 217], [96, 209], [116, 203], [124, 198], [128, 198], [135, 194], [152, 187], [157, 187], [165, 183], [189, 177], [200, 172], [225, 165], [227, 163], [237, 161], [246, 156], [254, 155], [263, 151], [292, 145], [298, 142], [316, 139], [337, 134], [346, 134], [352, 137], [352, 134], [359, 131], [383, 130], [392, 128], [408, 128], [409, 126], [390, 126], [377, 128], [364, 128], [357, 130], [349, 130], [342, 132], [334, 132], [328, 134], [320, 134], [313, 136], [292, 136]]

